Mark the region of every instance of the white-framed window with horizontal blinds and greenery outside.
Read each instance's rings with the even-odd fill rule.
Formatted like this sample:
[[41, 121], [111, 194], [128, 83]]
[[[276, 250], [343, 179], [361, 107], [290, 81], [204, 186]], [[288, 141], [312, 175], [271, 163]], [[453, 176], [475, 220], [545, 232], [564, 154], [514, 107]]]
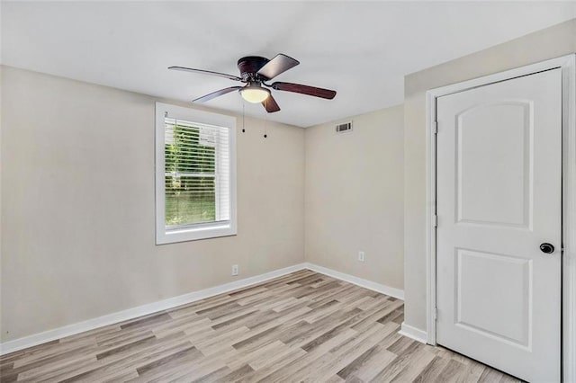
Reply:
[[156, 243], [236, 234], [236, 119], [156, 104]]

